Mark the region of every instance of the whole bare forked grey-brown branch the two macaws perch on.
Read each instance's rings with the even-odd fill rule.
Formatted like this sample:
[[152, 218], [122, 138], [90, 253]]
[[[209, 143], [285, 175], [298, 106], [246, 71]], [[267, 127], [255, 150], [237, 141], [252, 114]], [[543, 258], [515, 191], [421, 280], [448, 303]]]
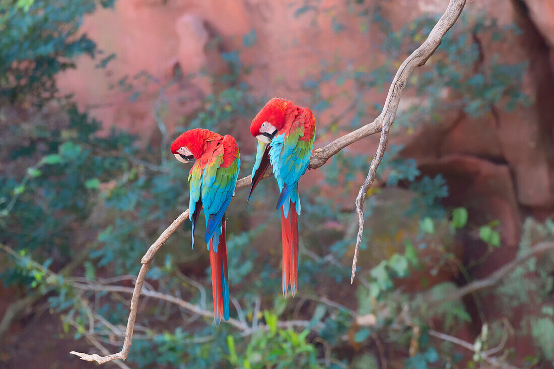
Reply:
[[[358, 194], [358, 199], [356, 199], [357, 212], [358, 215], [360, 215], [360, 230], [358, 231], [356, 252], [352, 265], [352, 280], [354, 277], [354, 272], [356, 270], [357, 255], [358, 250], [360, 249], [361, 234], [363, 231], [363, 199], [365, 198], [367, 189], [375, 178], [375, 170], [381, 162], [384, 149], [387, 145], [387, 133], [394, 120], [394, 116], [396, 115], [398, 103], [400, 101], [402, 92], [406, 87], [408, 76], [412, 73], [413, 69], [415, 69], [419, 65], [425, 64], [427, 59], [429, 59], [435, 49], [437, 49], [440, 41], [444, 37], [444, 34], [448, 31], [448, 29], [450, 29], [450, 27], [454, 25], [454, 23], [460, 16], [460, 13], [464, 8], [464, 4], [465, 0], [450, 0], [447, 10], [439, 19], [438, 23], [429, 34], [427, 40], [425, 40], [422, 46], [420, 46], [406, 60], [404, 60], [404, 63], [402, 63], [401, 67], [398, 69], [398, 72], [396, 73], [396, 76], [392, 81], [391, 88], [389, 89], [383, 111], [375, 120], [373, 120], [372, 123], [366, 124], [365, 126], [358, 128], [353, 132], [347, 133], [342, 137], [332, 141], [330, 144], [327, 144], [326, 146], [319, 148], [315, 150], [314, 153], [312, 153], [309, 168], [316, 169], [324, 165], [327, 160], [331, 158], [331, 156], [337, 154], [346, 146], [355, 143], [362, 138], [368, 137], [369, 135], [383, 132], [377, 149], [377, 155], [375, 158], [373, 158], [372, 164], [370, 166], [370, 173], [368, 173], [368, 178], [362, 185], [362, 188], [360, 189], [360, 194]], [[269, 169], [265, 172], [263, 178], [267, 178], [268, 176], [271, 176], [271, 171]], [[236, 189], [238, 190], [249, 185], [250, 176], [247, 176], [237, 181]], [[156, 252], [160, 249], [160, 247], [162, 247], [163, 244], [165, 244], [165, 242], [169, 239], [173, 232], [175, 232], [186, 219], [188, 219], [188, 209], [184, 211], [184, 213], [179, 215], [177, 219], [174, 220], [173, 223], [165, 231], [163, 231], [160, 237], [158, 237], [156, 242], [154, 242], [152, 246], [150, 246], [146, 254], [141, 259], [142, 267], [140, 269], [139, 275], [137, 276], [135, 289], [131, 298], [131, 311], [129, 314], [129, 320], [127, 321], [125, 341], [121, 351], [107, 356], [99, 356], [97, 354], [88, 355], [86, 353], [75, 351], [71, 351], [70, 353], [79, 356], [81, 360], [96, 361], [98, 363], [105, 363], [116, 359], [125, 360], [127, 358], [127, 355], [129, 355], [129, 350], [131, 348], [133, 327], [135, 325], [137, 314], [137, 306], [139, 305], [139, 296], [141, 294], [142, 284], [144, 282], [146, 272], [150, 268], [150, 264], [153, 260], [154, 255], [156, 255]], [[237, 323], [240, 324], [239, 321], [237, 321]]]

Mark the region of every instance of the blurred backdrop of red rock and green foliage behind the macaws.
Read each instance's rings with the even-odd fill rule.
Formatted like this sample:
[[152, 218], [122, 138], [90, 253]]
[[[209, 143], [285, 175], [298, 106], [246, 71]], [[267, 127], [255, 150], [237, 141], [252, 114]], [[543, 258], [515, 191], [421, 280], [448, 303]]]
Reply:
[[[240, 176], [248, 175], [255, 146], [249, 122], [280, 93], [312, 108], [316, 147], [329, 143], [376, 117], [399, 63], [444, 10], [432, 1], [409, 2], [396, 17], [392, 9], [402, 1], [253, 2], [251, 12], [271, 13], [274, 6], [286, 22], [305, 27], [307, 36], [291, 38], [289, 46], [293, 54], [304, 49], [308, 61], [290, 68], [284, 59], [260, 59], [281, 51], [268, 53], [271, 33], [253, 23], [232, 38], [207, 17], [199, 23], [207, 35], [201, 67], [191, 71], [170, 60], [170, 73], [160, 75], [121, 73], [120, 65], [111, 67], [117, 43], [101, 44], [86, 32], [94, 19], [107, 24], [106, 14], [126, 12], [130, 3], [147, 14], [176, 7], [171, 0], [0, 0], [2, 367], [88, 368], [95, 365], [69, 351], [120, 350], [141, 256], [188, 204], [189, 168], [168, 150], [176, 135], [194, 127], [234, 134]], [[551, 44], [526, 2], [507, 4], [468, 4], [409, 80], [393, 143], [368, 193], [353, 285], [353, 200], [375, 138], [301, 181], [294, 299], [280, 292], [279, 220], [267, 201], [276, 199], [276, 186], [263, 181], [248, 210], [245, 191], [237, 191], [227, 217], [231, 316], [238, 326], [213, 325], [207, 252], [191, 250], [188, 222], [173, 234], [143, 287], [165, 297], [141, 297], [126, 365], [552, 367], [552, 253], [526, 259], [497, 284], [458, 294], [554, 237], [548, 115], [554, 90], [545, 87], [552, 72], [541, 68], [554, 65], [541, 64]], [[498, 14], [491, 10], [500, 7]], [[131, 19], [148, 32], [161, 27]], [[284, 32], [297, 32], [291, 29]], [[331, 35], [329, 44], [319, 39], [319, 53], [308, 47], [314, 29]], [[352, 35], [367, 41], [352, 39], [357, 56], [333, 49], [333, 37]], [[141, 45], [133, 50], [140, 58]], [[272, 72], [268, 63], [285, 63], [288, 74]], [[102, 123], [105, 115], [78, 88], [98, 81], [66, 74], [86, 65], [109, 81], [115, 103], [140, 106], [146, 118], [119, 124], [114, 115]], [[125, 120], [130, 113], [122, 111]], [[105, 366], [116, 365], [122, 364]]]

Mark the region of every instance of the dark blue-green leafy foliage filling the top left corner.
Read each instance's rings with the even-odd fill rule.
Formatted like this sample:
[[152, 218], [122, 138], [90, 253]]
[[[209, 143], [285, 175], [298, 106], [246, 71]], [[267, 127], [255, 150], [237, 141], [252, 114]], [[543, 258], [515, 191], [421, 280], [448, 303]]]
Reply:
[[[79, 55], [94, 57], [96, 44], [78, 35], [85, 14], [113, 0], [0, 1], [0, 97], [41, 102], [56, 92], [54, 76], [74, 68]], [[38, 37], [37, 37], [38, 36]]]

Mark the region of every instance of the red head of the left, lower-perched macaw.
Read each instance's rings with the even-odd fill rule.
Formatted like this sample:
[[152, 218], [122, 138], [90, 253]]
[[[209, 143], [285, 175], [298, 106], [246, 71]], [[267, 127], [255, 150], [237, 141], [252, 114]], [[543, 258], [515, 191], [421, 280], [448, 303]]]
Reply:
[[171, 153], [181, 163], [189, 163], [204, 153], [206, 144], [221, 136], [209, 129], [194, 128], [184, 132], [171, 144]]

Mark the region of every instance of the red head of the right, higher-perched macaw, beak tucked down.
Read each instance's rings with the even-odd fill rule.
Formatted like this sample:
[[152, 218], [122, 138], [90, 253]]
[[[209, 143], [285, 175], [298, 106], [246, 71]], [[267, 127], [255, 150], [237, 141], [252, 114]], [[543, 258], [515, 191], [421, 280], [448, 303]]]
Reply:
[[296, 110], [296, 105], [290, 100], [273, 98], [256, 115], [250, 124], [250, 133], [269, 144], [275, 134], [284, 127], [288, 115]]

